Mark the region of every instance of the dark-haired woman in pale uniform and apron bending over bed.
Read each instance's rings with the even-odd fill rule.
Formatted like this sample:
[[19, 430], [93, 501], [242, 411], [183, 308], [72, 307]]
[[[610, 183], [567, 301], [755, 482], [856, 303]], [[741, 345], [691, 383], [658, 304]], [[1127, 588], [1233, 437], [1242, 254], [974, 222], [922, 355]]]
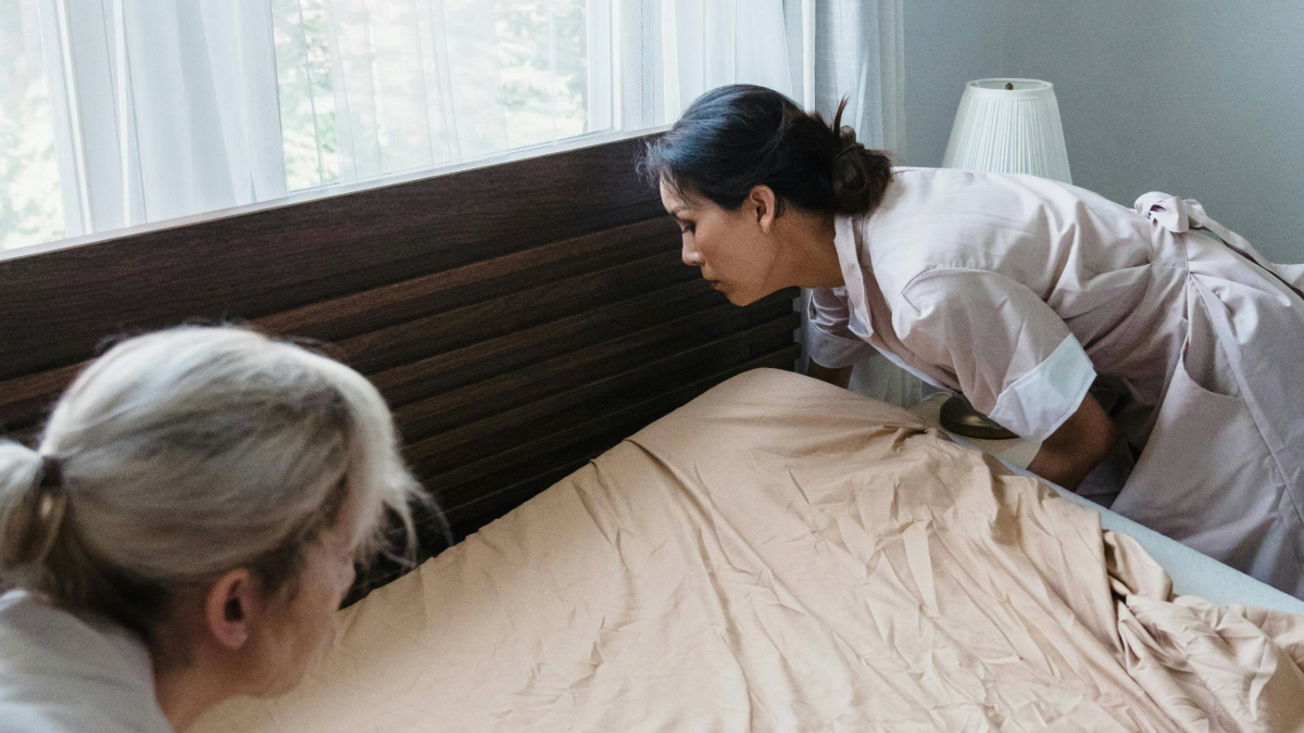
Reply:
[[643, 166], [730, 301], [812, 288], [811, 376], [878, 350], [1041, 441], [1035, 473], [1101, 467], [1115, 510], [1304, 597], [1300, 269], [1193, 201], [892, 168], [763, 87], [707, 93]]

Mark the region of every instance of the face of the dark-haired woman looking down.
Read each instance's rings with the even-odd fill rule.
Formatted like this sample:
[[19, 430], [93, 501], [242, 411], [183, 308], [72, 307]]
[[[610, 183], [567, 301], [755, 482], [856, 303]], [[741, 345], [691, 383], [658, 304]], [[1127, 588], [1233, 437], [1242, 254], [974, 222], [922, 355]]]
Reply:
[[748, 198], [730, 211], [702, 197], [682, 196], [662, 181], [661, 203], [683, 232], [683, 263], [700, 269], [730, 303], [747, 305], [784, 287], [773, 277], [778, 245], [767, 231], [773, 211], [767, 213], [763, 201]]

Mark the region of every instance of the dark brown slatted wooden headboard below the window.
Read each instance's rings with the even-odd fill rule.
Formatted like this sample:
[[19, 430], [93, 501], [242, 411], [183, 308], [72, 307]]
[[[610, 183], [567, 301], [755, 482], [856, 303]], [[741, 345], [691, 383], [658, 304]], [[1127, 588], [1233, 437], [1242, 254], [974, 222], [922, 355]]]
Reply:
[[246, 321], [366, 374], [464, 536], [720, 381], [798, 356], [794, 292], [735, 308], [679, 262], [634, 171], [642, 145], [0, 258], [0, 429], [31, 441], [108, 337]]

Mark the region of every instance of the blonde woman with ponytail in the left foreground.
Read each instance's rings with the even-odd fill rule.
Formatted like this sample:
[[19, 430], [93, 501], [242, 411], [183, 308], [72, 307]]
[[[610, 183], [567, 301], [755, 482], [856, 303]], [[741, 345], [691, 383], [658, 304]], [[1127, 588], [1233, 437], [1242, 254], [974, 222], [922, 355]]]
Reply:
[[291, 689], [415, 489], [347, 366], [237, 329], [119, 344], [39, 450], [0, 442], [0, 730], [179, 733]]

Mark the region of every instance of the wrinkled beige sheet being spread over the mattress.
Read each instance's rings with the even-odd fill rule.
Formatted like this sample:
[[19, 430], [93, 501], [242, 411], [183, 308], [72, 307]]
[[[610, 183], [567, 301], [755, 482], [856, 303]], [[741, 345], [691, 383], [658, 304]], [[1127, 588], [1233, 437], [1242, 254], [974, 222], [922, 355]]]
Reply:
[[776, 370], [339, 614], [194, 730], [1300, 730], [1304, 617], [1171, 597], [1098, 515]]

